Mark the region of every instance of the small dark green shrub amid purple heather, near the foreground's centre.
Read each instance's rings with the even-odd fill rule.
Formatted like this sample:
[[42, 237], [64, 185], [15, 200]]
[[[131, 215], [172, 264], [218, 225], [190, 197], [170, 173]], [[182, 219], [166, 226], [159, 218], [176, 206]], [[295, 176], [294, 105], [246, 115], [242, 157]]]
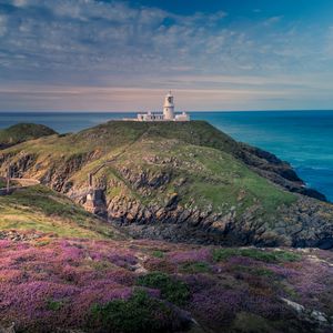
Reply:
[[139, 276], [138, 284], [160, 290], [163, 299], [178, 305], [186, 303], [190, 297], [188, 285], [165, 273], [152, 272]]

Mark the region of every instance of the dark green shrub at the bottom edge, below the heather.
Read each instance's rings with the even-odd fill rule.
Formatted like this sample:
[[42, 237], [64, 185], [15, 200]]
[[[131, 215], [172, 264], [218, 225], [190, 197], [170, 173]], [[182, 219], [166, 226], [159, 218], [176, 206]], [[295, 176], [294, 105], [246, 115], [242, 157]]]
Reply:
[[129, 300], [93, 305], [91, 314], [94, 327], [100, 327], [94, 332], [173, 332], [188, 323], [174, 309], [140, 290]]

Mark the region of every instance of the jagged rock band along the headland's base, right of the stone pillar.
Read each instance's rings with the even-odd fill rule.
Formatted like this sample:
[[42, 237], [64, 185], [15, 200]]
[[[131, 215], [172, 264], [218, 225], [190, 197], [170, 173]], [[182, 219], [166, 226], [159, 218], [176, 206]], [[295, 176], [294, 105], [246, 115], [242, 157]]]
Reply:
[[256, 210], [259, 206], [239, 216], [234, 210], [221, 215], [186, 210], [176, 202], [147, 208], [137, 201], [117, 198], [108, 204], [108, 216], [134, 238], [225, 245], [333, 248], [330, 205], [300, 196], [294, 205], [279, 211], [279, 220], [270, 222], [258, 219]]

